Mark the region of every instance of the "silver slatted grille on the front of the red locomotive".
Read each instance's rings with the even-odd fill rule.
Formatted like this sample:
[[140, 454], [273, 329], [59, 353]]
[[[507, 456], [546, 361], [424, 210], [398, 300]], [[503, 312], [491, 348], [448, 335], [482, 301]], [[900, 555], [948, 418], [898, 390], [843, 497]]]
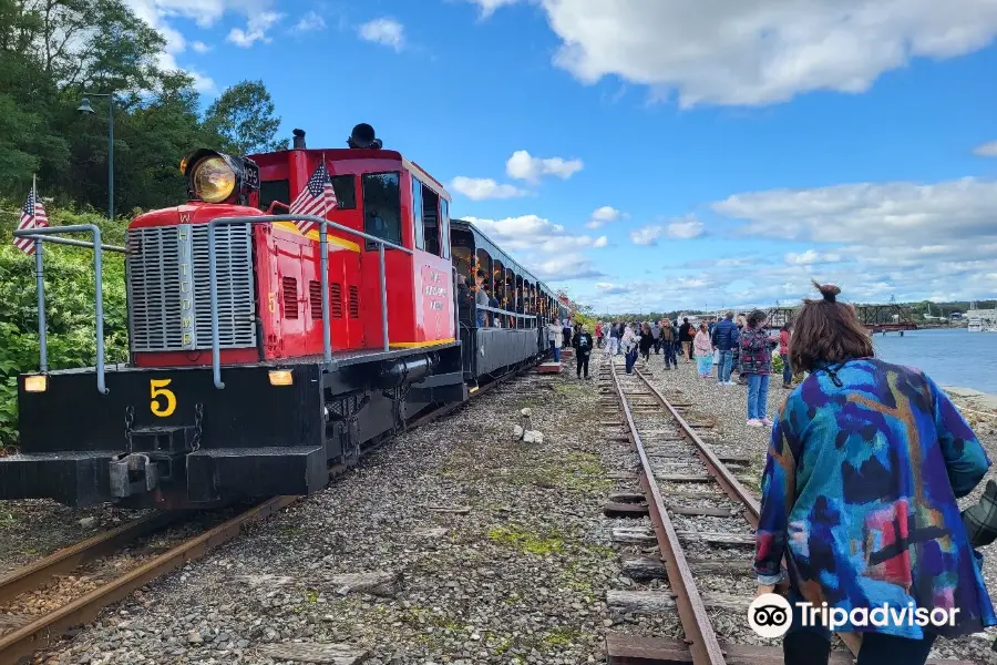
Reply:
[[[217, 227], [215, 243], [219, 346], [255, 347], [250, 229]], [[129, 248], [132, 350], [210, 349], [207, 225], [133, 228]]]

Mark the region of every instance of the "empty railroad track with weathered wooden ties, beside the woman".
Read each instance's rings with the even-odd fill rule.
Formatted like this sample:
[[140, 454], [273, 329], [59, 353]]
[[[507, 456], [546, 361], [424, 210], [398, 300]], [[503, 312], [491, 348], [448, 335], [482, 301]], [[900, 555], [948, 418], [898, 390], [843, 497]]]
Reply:
[[[652, 529], [618, 528], [613, 539], [644, 551], [657, 545], [657, 556], [624, 555], [624, 573], [640, 581], [665, 579], [669, 589], [609, 592], [607, 603], [619, 613], [677, 610], [685, 638], [608, 633], [609, 664], [782, 665], [781, 646], [759, 644], [748, 627], [760, 513], [760, 502], [747, 487], [752, 482], [746, 475], [750, 460], [703, 441], [699, 432], [712, 423], [687, 417], [691, 405], [669, 401], [651, 378], [636, 368], [626, 375], [611, 359], [599, 368], [602, 403], [618, 406], [621, 416], [605, 424], [623, 428], [619, 439], [629, 441], [639, 458], [636, 478], [620, 480], [636, 480], [641, 490], [614, 493], [605, 513], [650, 518]], [[722, 616], [727, 618], [718, 631], [716, 617]], [[832, 651], [830, 662], [853, 663], [859, 637], [839, 637], [847, 649]]]

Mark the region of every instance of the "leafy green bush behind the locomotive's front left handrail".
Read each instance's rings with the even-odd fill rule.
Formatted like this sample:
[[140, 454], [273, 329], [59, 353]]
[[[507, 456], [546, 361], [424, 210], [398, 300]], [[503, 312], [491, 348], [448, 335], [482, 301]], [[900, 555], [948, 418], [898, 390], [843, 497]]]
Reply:
[[[13, 212], [11, 212], [13, 211]], [[18, 375], [38, 371], [38, 306], [34, 257], [12, 244], [18, 208], [0, 202], [4, 242], [0, 244], [0, 448], [18, 440]], [[52, 225], [96, 224], [104, 243], [122, 244], [124, 221], [101, 219], [93, 213], [49, 211]], [[83, 236], [81, 236], [81, 239]], [[93, 253], [82, 247], [44, 248], [45, 318], [49, 369], [93, 367]], [[104, 253], [104, 346], [109, 362], [127, 360], [127, 308], [124, 257]]]

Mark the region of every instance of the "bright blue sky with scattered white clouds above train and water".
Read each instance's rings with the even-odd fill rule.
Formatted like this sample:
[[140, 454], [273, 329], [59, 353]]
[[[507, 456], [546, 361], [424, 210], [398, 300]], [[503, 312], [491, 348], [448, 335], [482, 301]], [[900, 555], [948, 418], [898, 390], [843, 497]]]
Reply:
[[599, 311], [997, 295], [991, 0], [127, 1]]

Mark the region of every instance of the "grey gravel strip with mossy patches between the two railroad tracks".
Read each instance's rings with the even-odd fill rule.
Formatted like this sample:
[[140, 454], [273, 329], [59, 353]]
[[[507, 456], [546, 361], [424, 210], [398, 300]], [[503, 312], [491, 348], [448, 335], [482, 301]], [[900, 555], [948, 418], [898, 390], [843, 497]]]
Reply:
[[[268, 645], [286, 642], [351, 645], [371, 665], [605, 662], [605, 592], [630, 582], [600, 518], [595, 381], [573, 370], [399, 436], [44, 662], [275, 663]], [[542, 443], [513, 439], [523, 408]], [[376, 573], [367, 592], [343, 577]]]

